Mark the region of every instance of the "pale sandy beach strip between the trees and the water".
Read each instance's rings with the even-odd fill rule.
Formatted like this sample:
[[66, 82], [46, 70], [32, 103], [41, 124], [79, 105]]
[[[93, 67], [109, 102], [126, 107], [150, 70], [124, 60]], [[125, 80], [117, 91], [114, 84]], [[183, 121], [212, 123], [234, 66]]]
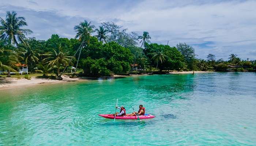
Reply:
[[[189, 74], [193, 72], [169, 72], [167, 74]], [[195, 71], [195, 73], [209, 73], [203, 71]], [[118, 77], [131, 77], [131, 76], [149, 76], [148, 74], [132, 74], [130, 76], [124, 75], [114, 75], [113, 78]], [[101, 78], [109, 78], [109, 77], [78, 77], [78, 78], [69, 78], [66, 76], [62, 76], [63, 80], [53, 80], [49, 78], [37, 78], [32, 77], [31, 80], [27, 80], [25, 78], [15, 78], [15, 77], [4, 77], [0, 78], [0, 90], [8, 90], [16, 87], [29, 87], [33, 85], [48, 85], [48, 84], [57, 84], [64, 82], [80, 82], [80, 81], [91, 81], [91, 80], [99, 80]]]

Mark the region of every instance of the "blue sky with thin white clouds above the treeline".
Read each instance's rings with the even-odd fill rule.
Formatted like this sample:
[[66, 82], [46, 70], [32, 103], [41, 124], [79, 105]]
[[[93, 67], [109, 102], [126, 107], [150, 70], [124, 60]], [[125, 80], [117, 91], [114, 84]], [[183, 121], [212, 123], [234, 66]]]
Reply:
[[74, 26], [86, 19], [95, 26], [112, 21], [129, 32], [148, 31], [151, 43], [187, 43], [197, 58], [211, 53], [256, 59], [256, 1], [245, 0], [1, 0], [0, 17], [16, 11], [34, 33], [74, 38]]

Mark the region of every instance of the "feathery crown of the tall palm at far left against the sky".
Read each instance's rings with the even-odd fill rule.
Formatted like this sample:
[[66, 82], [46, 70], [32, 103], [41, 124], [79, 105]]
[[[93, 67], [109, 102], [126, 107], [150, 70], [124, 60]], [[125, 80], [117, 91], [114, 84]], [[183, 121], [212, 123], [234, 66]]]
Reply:
[[27, 26], [24, 17], [17, 17], [15, 11], [7, 11], [5, 20], [0, 18], [0, 39], [7, 40], [11, 45], [18, 45], [18, 41], [26, 44], [26, 35], [33, 33], [30, 29], [23, 29]]

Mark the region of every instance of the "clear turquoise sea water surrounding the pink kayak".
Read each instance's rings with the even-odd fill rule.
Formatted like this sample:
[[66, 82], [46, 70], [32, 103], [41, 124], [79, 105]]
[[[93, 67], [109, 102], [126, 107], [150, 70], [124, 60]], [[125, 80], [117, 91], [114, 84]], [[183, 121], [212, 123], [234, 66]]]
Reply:
[[[0, 90], [0, 146], [256, 145], [255, 89], [256, 73], [206, 73]], [[156, 118], [98, 116], [117, 98]]]

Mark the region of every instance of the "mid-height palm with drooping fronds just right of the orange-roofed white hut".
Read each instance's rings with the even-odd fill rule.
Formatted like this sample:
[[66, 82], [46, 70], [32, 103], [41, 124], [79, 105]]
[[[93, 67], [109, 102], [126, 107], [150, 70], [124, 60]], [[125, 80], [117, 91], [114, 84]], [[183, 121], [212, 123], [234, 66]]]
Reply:
[[40, 54], [34, 51], [30, 46], [21, 48], [20, 51], [24, 56], [24, 61], [28, 65], [28, 69], [31, 71], [33, 62], [38, 62], [39, 59], [37, 58], [37, 56], [39, 56]]

